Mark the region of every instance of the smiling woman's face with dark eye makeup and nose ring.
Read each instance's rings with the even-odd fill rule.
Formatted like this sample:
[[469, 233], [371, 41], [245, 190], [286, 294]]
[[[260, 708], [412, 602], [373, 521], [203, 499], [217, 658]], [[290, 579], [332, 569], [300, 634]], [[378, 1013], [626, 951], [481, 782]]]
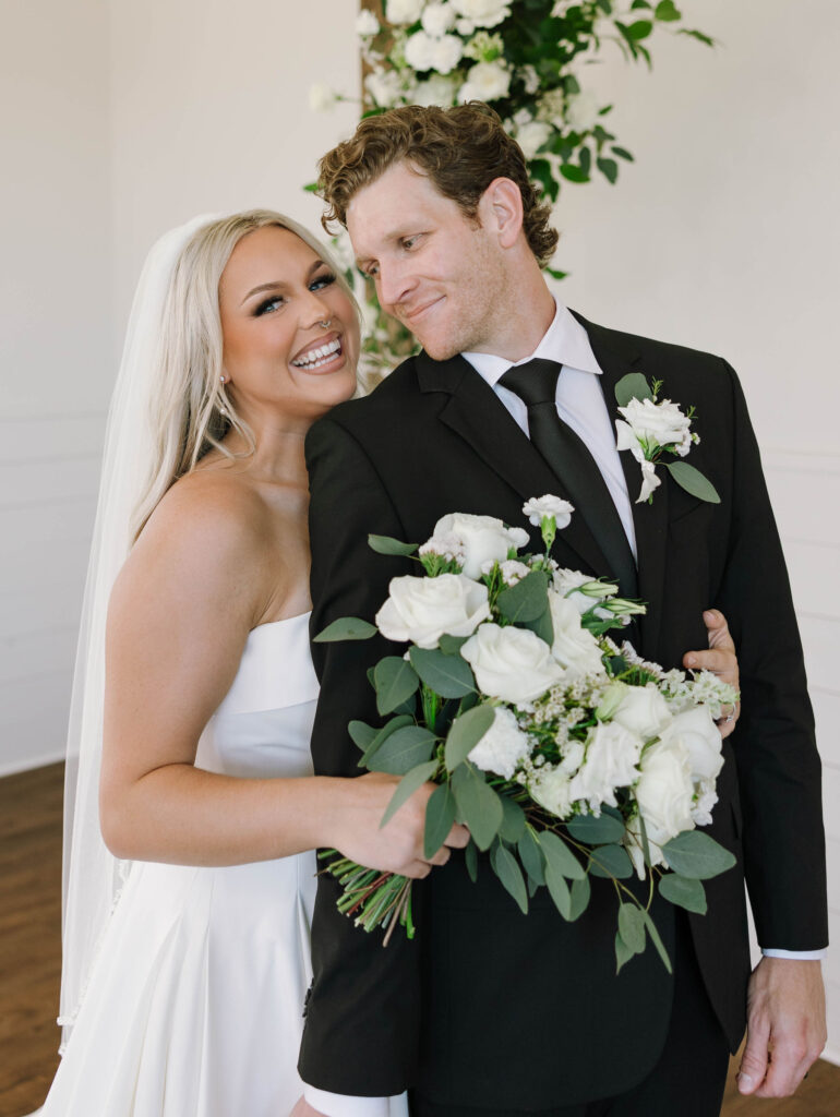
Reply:
[[228, 391], [244, 418], [268, 410], [312, 422], [353, 394], [353, 306], [294, 232], [265, 226], [239, 241], [219, 283], [219, 311]]

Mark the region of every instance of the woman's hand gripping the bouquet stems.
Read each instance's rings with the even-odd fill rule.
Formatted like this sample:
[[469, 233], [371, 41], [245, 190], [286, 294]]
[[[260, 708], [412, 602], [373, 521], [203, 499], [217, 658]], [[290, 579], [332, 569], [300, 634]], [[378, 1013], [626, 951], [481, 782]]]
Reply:
[[344, 796], [336, 811], [335, 837], [332, 844], [345, 857], [383, 871], [403, 877], [428, 877], [435, 865], [446, 865], [452, 849], [462, 849], [469, 841], [466, 827], [454, 825], [443, 844], [427, 858], [423, 853], [426, 804], [435, 784], [426, 783], [381, 827], [382, 815], [399, 776], [370, 772], [354, 780], [343, 780]]

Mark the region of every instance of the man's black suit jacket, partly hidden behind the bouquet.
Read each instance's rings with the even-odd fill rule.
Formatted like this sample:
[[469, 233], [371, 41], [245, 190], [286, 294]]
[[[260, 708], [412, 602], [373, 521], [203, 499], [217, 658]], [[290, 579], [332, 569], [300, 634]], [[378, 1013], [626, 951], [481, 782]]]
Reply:
[[[750, 972], [744, 876], [766, 947], [825, 945], [820, 764], [802, 652], [779, 536], [741, 386], [719, 357], [604, 330], [581, 319], [613, 389], [627, 372], [664, 382], [695, 404], [701, 436], [690, 462], [716, 486], [701, 503], [664, 483], [633, 504], [646, 658], [679, 666], [706, 642], [703, 610], [722, 609], [738, 648], [743, 713], [724, 743], [709, 828], [737, 868], [707, 882], [709, 910], [691, 918], [700, 968], [733, 1047], [745, 1022]], [[341, 615], [372, 619], [389, 580], [416, 572], [374, 555], [369, 532], [422, 542], [448, 512], [524, 524], [523, 502], [562, 483], [461, 357], [410, 359], [371, 397], [335, 408], [307, 438], [313, 633]], [[631, 500], [641, 484], [622, 454]], [[533, 550], [538, 548], [536, 531]], [[557, 534], [564, 566], [609, 575], [580, 515]], [[393, 646], [315, 645], [322, 697], [316, 772], [354, 775], [347, 722], [375, 722], [365, 671]], [[477, 885], [454, 857], [416, 886], [417, 938], [388, 948], [335, 910], [322, 878], [313, 926], [314, 983], [300, 1054], [305, 1081], [389, 1095], [418, 1086], [455, 1105], [544, 1109], [630, 1088], [652, 1067], [668, 1025], [671, 981], [651, 946], [614, 974], [615, 899], [594, 882], [590, 909], [564, 923], [545, 890], [519, 914], [488, 867]], [[655, 917], [672, 944], [674, 913]]]

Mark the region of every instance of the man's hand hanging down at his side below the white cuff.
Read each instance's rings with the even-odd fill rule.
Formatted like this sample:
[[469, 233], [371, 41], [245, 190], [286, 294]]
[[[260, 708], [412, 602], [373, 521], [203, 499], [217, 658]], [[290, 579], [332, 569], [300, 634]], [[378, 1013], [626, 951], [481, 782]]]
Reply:
[[756, 1098], [793, 1094], [825, 1047], [825, 992], [819, 962], [762, 958], [750, 978], [738, 1090]]

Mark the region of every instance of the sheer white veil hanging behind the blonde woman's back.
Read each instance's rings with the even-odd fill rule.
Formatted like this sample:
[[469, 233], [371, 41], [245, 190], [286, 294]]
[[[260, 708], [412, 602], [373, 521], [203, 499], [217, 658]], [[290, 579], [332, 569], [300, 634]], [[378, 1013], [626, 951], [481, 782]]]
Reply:
[[134, 296], [105, 436], [96, 525], [82, 610], [65, 776], [64, 962], [58, 1023], [64, 1043], [76, 1019], [108, 917], [131, 862], [99, 832], [98, 785], [105, 690], [105, 617], [132, 545], [132, 514], [154, 460], [151, 400], [162, 322], [175, 265], [192, 236], [218, 214], [193, 218], [154, 245]]

